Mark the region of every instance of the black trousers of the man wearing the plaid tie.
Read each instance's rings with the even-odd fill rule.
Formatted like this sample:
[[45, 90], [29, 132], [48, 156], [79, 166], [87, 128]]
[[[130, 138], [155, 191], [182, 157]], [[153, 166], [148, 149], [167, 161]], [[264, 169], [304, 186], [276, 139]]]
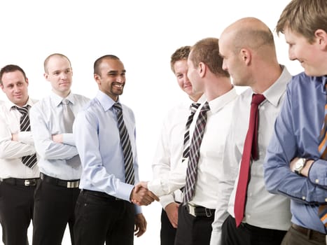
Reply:
[[209, 245], [214, 214], [211, 217], [195, 217], [188, 214], [186, 206], [179, 206], [175, 245]]

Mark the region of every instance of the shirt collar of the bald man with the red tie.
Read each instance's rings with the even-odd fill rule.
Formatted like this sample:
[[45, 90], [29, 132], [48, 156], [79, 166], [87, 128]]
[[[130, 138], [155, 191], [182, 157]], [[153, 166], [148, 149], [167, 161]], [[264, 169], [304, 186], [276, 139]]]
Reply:
[[268, 102], [270, 102], [273, 106], [278, 106], [281, 96], [286, 91], [286, 85], [291, 80], [292, 76], [288, 72], [285, 66], [282, 66], [283, 71], [281, 72], [281, 76], [274, 82], [263, 95]]

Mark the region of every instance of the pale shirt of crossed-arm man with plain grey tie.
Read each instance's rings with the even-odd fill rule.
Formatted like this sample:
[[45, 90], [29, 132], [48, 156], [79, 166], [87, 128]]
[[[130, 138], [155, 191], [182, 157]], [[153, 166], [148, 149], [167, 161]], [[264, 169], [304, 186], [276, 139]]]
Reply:
[[[40, 155], [39, 169], [43, 174], [57, 179], [80, 179], [82, 168], [79, 158], [71, 165], [66, 161], [78, 155], [78, 152], [73, 134], [64, 132], [62, 99], [51, 92], [50, 96], [41, 99], [33, 106], [30, 112], [35, 148]], [[90, 101], [87, 97], [72, 93], [67, 96], [67, 99], [71, 102], [71, 110], [75, 117]], [[63, 134], [63, 144], [53, 141], [54, 134]]]

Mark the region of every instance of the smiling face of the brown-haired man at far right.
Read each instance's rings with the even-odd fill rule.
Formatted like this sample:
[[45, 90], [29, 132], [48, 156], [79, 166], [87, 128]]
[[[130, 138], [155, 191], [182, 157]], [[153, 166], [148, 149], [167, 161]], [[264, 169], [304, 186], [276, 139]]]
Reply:
[[315, 38], [313, 43], [309, 43], [307, 38], [288, 27], [285, 28], [284, 35], [286, 43], [288, 43], [289, 59], [297, 59], [308, 76], [324, 76], [327, 74], [327, 52], [321, 48], [319, 38]]

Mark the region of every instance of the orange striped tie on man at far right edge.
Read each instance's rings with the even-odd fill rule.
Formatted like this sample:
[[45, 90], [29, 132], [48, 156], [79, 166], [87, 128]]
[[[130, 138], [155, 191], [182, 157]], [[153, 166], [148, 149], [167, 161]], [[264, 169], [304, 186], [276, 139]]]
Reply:
[[[327, 83], [325, 85], [325, 91], [327, 88]], [[319, 135], [319, 146], [318, 151], [320, 153], [320, 158], [323, 160], [327, 160], [327, 96], [326, 96], [326, 104], [325, 104], [325, 117], [323, 120], [323, 126], [321, 127], [320, 135]], [[327, 205], [320, 205], [318, 209], [318, 216], [327, 228]]]

